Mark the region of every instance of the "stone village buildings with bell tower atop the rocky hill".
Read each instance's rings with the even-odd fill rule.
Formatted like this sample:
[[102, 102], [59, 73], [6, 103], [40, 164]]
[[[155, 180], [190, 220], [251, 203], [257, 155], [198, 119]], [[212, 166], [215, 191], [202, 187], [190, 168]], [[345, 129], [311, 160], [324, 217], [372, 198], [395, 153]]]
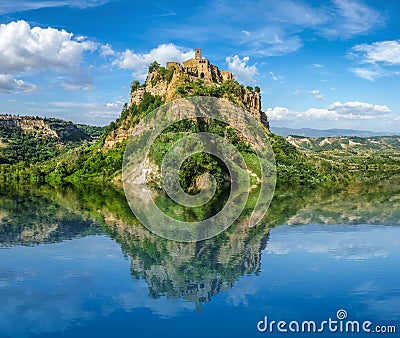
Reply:
[[194, 59], [183, 62], [183, 67], [178, 62], [167, 62], [167, 69], [181, 69], [192, 78], [223, 83], [226, 80], [234, 80], [233, 74], [226, 70], [220, 70], [217, 66], [204, 59], [201, 55], [201, 49], [196, 48]]

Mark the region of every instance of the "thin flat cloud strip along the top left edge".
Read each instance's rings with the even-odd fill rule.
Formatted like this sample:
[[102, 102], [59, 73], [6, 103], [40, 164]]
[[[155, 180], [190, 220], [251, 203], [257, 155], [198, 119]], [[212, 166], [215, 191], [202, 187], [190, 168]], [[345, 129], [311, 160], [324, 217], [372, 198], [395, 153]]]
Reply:
[[53, 8], [53, 7], [72, 7], [84, 9], [88, 7], [97, 7], [106, 4], [109, 0], [29, 0], [15, 1], [2, 0], [0, 3], [0, 14], [18, 13], [23, 11]]

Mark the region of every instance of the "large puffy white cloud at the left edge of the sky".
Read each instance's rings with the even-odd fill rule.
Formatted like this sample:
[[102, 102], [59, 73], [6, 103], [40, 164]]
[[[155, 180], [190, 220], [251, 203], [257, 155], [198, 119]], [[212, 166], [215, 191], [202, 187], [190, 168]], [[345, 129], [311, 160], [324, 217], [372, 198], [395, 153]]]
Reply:
[[84, 52], [94, 49], [93, 42], [77, 41], [65, 30], [31, 28], [26, 21], [0, 25], [0, 72], [3, 73], [48, 69], [70, 72], [79, 67]]

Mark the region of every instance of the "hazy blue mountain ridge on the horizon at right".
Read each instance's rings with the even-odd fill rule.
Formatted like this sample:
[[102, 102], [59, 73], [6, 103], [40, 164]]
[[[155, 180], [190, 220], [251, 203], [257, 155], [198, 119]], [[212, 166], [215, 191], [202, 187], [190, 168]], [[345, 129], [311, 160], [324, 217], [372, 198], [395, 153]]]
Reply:
[[354, 129], [312, 129], [312, 128], [286, 128], [286, 127], [271, 127], [271, 132], [274, 134], [287, 137], [290, 135], [305, 136], [305, 137], [336, 137], [336, 136], [359, 136], [359, 137], [373, 137], [373, 136], [394, 136], [400, 135], [400, 133], [388, 133], [388, 132], [374, 132], [366, 130], [354, 130]]

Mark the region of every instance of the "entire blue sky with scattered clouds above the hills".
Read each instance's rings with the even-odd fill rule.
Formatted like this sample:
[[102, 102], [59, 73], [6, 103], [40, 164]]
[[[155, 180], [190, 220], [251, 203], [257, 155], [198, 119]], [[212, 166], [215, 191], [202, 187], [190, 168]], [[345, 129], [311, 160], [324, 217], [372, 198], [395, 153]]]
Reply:
[[0, 113], [105, 125], [149, 63], [200, 47], [261, 87], [273, 126], [399, 132], [398, 13], [397, 0], [2, 0]]

